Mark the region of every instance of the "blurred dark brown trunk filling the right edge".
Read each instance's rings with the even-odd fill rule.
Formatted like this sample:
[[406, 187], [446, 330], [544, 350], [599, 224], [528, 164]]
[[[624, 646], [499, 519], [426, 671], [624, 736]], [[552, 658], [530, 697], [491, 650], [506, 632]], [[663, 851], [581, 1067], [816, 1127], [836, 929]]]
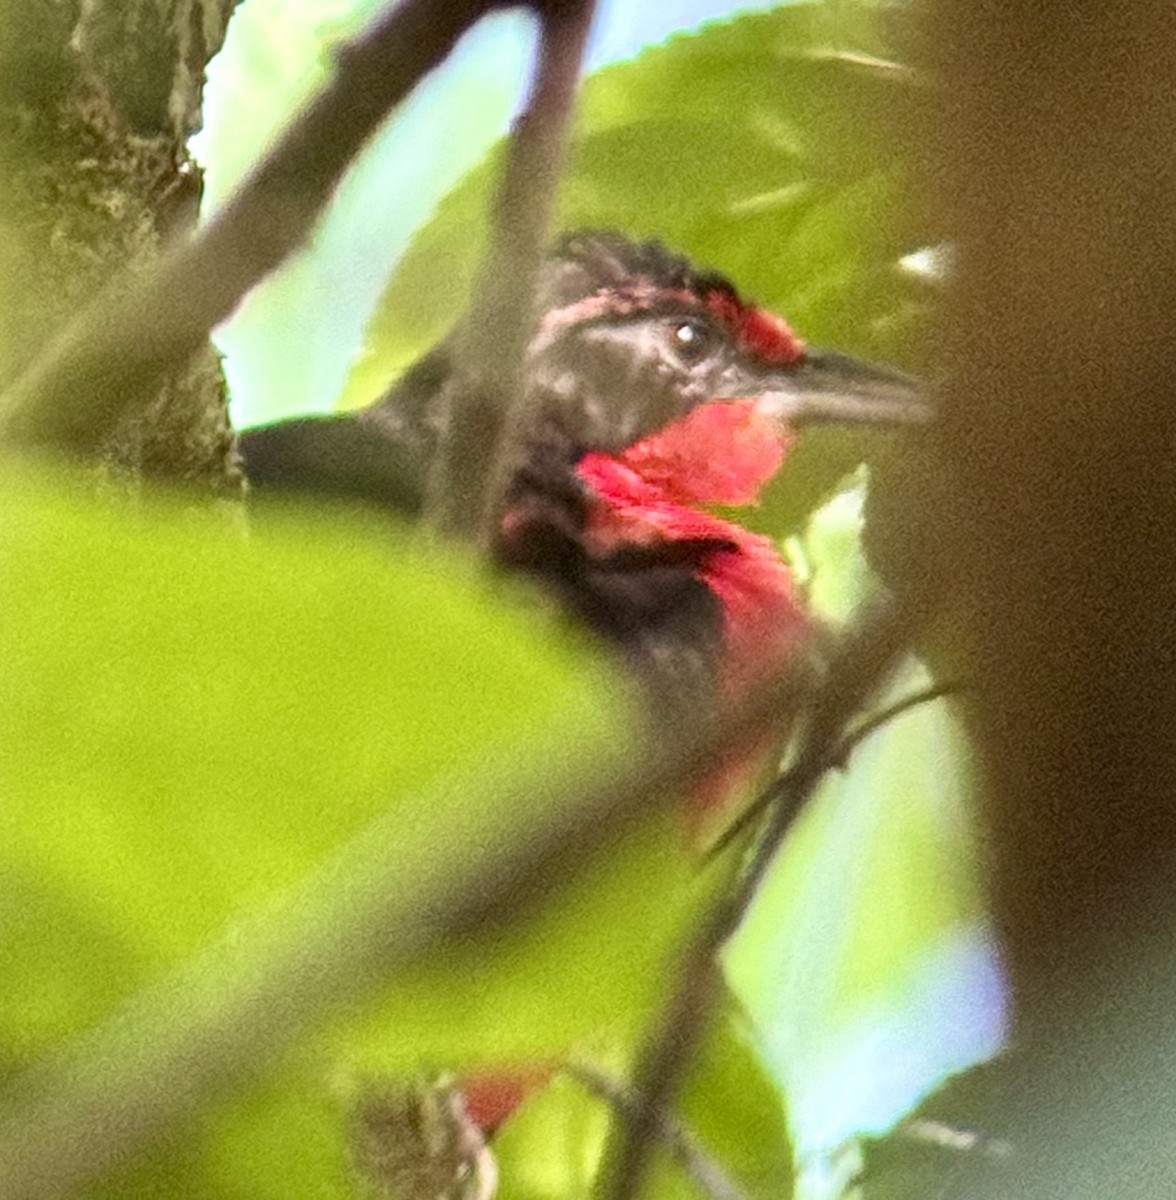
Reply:
[[960, 252], [937, 545], [974, 614], [1016, 1004], [1002, 1194], [1171, 1195], [1176, 11], [934, 13]]

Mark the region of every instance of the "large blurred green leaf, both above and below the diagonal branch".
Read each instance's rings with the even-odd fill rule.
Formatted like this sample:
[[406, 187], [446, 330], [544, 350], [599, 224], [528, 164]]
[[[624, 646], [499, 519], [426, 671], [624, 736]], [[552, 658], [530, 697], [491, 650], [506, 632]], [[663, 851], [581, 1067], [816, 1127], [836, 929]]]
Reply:
[[[391, 896], [460, 886], [564, 803], [570, 773], [630, 745], [625, 692], [538, 600], [383, 523], [300, 512], [244, 536], [178, 504], [110, 511], [30, 476], [5, 488], [0, 548], [0, 1066], [13, 1076], [227, 928], [246, 936], [263, 912], [280, 929], [287, 898], [376, 818], [396, 832]], [[487, 786], [504, 773], [529, 780], [509, 806]], [[677, 830], [652, 822], [558, 904], [334, 1018], [108, 1194], [277, 1198], [283, 1156], [307, 1189], [343, 1194], [340, 1072], [628, 1036], [690, 875]], [[197, 1001], [218, 1003], [214, 984]]]

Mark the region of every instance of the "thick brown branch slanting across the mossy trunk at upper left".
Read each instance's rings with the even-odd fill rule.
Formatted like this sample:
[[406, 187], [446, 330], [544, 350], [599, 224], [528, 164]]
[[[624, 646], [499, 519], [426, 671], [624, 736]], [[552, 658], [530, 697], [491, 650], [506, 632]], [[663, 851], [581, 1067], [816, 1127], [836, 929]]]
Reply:
[[234, 198], [143, 278], [89, 305], [0, 401], [8, 444], [90, 454], [307, 236], [352, 158], [502, 0], [404, 0], [343, 48], [334, 79]]

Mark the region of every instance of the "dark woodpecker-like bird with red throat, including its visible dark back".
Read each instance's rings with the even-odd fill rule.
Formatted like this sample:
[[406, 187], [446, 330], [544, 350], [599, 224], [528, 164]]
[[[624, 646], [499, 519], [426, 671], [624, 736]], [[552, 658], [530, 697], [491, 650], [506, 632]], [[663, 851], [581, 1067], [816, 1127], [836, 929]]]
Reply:
[[[922, 391], [612, 229], [556, 239], [535, 312], [491, 557], [610, 646], [661, 718], [721, 704], [803, 654], [816, 623], [776, 545], [715, 506], [755, 503], [805, 425], [925, 422]], [[420, 516], [460, 336], [367, 409], [244, 431], [251, 488]]]

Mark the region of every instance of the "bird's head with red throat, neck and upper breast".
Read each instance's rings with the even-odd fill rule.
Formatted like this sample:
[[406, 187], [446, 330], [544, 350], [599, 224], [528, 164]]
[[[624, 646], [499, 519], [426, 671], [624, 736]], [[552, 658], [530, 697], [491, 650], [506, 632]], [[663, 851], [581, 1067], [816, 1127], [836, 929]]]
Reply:
[[668, 674], [662, 691], [697, 694], [695, 660], [742, 686], [811, 622], [775, 545], [710, 506], [754, 503], [798, 426], [922, 421], [914, 384], [808, 348], [722, 276], [611, 232], [557, 242], [536, 299], [499, 558]]

